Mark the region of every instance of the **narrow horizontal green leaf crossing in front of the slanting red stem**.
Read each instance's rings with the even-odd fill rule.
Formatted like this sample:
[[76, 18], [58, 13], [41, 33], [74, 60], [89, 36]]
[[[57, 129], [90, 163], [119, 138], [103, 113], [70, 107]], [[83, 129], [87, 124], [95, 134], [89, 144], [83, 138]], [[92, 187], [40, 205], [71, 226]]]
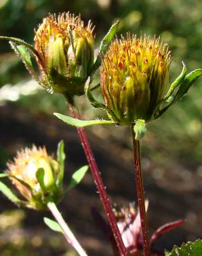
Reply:
[[62, 113], [53, 113], [57, 118], [66, 122], [68, 125], [73, 127], [86, 127], [91, 125], [115, 125], [116, 122], [111, 120], [80, 120], [77, 118], [71, 118], [70, 116], [64, 116]]

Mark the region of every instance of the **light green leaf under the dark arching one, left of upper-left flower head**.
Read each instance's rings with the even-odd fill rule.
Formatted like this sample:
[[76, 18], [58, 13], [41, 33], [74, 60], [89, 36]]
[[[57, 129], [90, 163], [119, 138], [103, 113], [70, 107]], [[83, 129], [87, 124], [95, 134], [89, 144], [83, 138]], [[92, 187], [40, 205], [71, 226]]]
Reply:
[[12, 49], [15, 51], [15, 53], [17, 53], [17, 55], [19, 57], [21, 57], [21, 60], [24, 62], [24, 65], [26, 66], [28, 72], [30, 73], [30, 75], [37, 81], [39, 82], [38, 78], [37, 78], [37, 74], [35, 73], [35, 70], [33, 68], [33, 63], [31, 61], [30, 58], [30, 54], [28, 52], [28, 49], [26, 46], [24, 45], [17, 45], [13, 42], [10, 42], [10, 45], [12, 47]]

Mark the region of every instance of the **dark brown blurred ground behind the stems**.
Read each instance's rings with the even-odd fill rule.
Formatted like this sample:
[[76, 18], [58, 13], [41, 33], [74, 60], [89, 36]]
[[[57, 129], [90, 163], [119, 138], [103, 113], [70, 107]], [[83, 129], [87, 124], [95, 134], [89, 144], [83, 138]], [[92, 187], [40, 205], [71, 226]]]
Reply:
[[[28, 113], [17, 104], [7, 104], [0, 107], [0, 144], [10, 156], [15, 155], [17, 149], [36, 145], [46, 145], [48, 152], [55, 152], [59, 140], [64, 139], [66, 143], [66, 176], [67, 184], [74, 170], [86, 164], [82, 147], [73, 127], [57, 120], [54, 116], [43, 116], [39, 113]], [[100, 128], [101, 129], [101, 128]], [[116, 128], [122, 132], [121, 128]], [[102, 131], [97, 129], [87, 130], [95, 158], [98, 161], [100, 172], [107, 185], [107, 192], [111, 196], [111, 202], [134, 201], [134, 172], [133, 155], [128, 143], [119, 138], [104, 138]], [[100, 136], [100, 132], [102, 136]], [[102, 137], [102, 138], [101, 138]], [[176, 161], [167, 156], [165, 160], [158, 163], [144, 155], [143, 147], [143, 169], [145, 180], [145, 192], [149, 199], [149, 232], [152, 234], [156, 228], [166, 222], [186, 218], [187, 222], [182, 228], [168, 232], [156, 242], [157, 248], [170, 249], [174, 244], [182, 241], [194, 240], [202, 237], [202, 179], [200, 167], [197, 174], [187, 167], [185, 161]], [[106, 256], [112, 255], [107, 240], [98, 230], [91, 218], [91, 207], [96, 207], [104, 216], [102, 205], [100, 205], [99, 194], [89, 172], [82, 183], [66, 195], [60, 203], [64, 219], [70, 223], [73, 230], [86, 248], [89, 255]], [[10, 203], [1, 195], [0, 210], [14, 209], [15, 205]], [[24, 221], [24, 232], [41, 232], [50, 237], [50, 232], [42, 224], [43, 214], [46, 212], [35, 212], [26, 210], [27, 217]], [[49, 239], [49, 238], [48, 238]], [[64, 244], [57, 252], [43, 250], [40, 255], [61, 255], [65, 252]]]

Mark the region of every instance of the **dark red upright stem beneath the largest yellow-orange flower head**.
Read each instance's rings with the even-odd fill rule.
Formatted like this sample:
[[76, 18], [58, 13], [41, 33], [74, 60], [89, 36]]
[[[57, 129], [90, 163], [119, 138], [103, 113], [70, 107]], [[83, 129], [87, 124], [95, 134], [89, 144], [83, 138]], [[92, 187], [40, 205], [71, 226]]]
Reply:
[[143, 252], [144, 256], [149, 256], [149, 232], [147, 225], [147, 216], [145, 210], [145, 195], [143, 186], [143, 173], [141, 167], [140, 141], [136, 140], [134, 133], [134, 125], [131, 127], [133, 145], [134, 145], [134, 169], [136, 174], [136, 190], [138, 196], [138, 207], [140, 212], [140, 222], [143, 233]]

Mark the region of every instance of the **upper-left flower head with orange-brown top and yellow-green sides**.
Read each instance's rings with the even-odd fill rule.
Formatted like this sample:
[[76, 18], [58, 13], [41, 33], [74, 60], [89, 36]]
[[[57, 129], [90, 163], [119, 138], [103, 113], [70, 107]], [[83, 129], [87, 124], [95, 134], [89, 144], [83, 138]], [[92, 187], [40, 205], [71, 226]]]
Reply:
[[49, 15], [35, 31], [34, 40], [42, 86], [69, 97], [83, 94], [94, 59], [91, 21], [84, 26], [80, 16], [68, 12]]

